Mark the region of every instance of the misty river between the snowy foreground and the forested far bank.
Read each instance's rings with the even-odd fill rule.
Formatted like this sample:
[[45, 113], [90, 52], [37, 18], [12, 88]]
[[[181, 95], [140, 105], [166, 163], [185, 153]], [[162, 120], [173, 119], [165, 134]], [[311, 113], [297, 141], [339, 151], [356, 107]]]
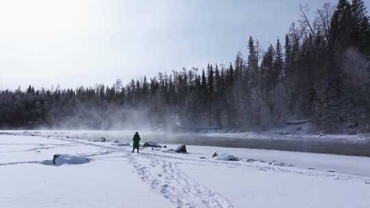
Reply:
[[[70, 138], [132, 141], [132, 131], [0, 131], [5, 134], [68, 136]], [[144, 138], [167, 144], [257, 148], [370, 157], [369, 135], [279, 135], [274, 132], [246, 133], [162, 133], [140, 132]]]

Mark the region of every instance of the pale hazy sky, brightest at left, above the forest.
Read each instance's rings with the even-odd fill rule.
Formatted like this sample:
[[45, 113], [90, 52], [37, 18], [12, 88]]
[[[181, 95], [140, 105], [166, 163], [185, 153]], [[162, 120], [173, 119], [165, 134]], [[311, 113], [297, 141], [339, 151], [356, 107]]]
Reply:
[[299, 3], [314, 14], [324, 2], [0, 1], [0, 88], [111, 85], [227, 64], [247, 54], [249, 36], [264, 46], [284, 38]]

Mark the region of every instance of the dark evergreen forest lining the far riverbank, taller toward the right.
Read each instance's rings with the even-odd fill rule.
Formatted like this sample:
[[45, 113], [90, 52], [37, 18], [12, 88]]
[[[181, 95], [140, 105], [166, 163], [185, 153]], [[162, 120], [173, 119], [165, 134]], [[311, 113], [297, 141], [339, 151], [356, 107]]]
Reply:
[[370, 131], [370, 24], [363, 0], [325, 3], [265, 51], [249, 37], [234, 62], [120, 79], [94, 88], [1, 90], [0, 126], [268, 130], [307, 119], [310, 131]]

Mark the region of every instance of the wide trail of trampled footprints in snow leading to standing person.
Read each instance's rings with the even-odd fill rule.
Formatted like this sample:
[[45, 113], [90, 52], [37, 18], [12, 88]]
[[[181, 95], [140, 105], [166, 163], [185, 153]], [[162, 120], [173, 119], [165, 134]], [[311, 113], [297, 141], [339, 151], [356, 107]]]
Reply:
[[143, 181], [177, 207], [234, 207], [227, 199], [190, 179], [171, 161], [146, 153], [140, 156], [127, 153], [127, 157]]

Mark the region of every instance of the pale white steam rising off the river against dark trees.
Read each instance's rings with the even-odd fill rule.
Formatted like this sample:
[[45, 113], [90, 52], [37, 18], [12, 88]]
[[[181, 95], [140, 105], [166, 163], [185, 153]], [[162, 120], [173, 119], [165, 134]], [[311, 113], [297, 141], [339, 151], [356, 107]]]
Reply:
[[[173, 127], [175, 116], [162, 115], [162, 118], [156, 118], [150, 114], [151, 110], [149, 107], [129, 109], [116, 105], [95, 109], [79, 105], [70, 115], [60, 116], [58, 112], [51, 112], [47, 118], [51, 125], [40, 129], [153, 131], [169, 130]], [[54, 116], [56, 114], [58, 116]]]

